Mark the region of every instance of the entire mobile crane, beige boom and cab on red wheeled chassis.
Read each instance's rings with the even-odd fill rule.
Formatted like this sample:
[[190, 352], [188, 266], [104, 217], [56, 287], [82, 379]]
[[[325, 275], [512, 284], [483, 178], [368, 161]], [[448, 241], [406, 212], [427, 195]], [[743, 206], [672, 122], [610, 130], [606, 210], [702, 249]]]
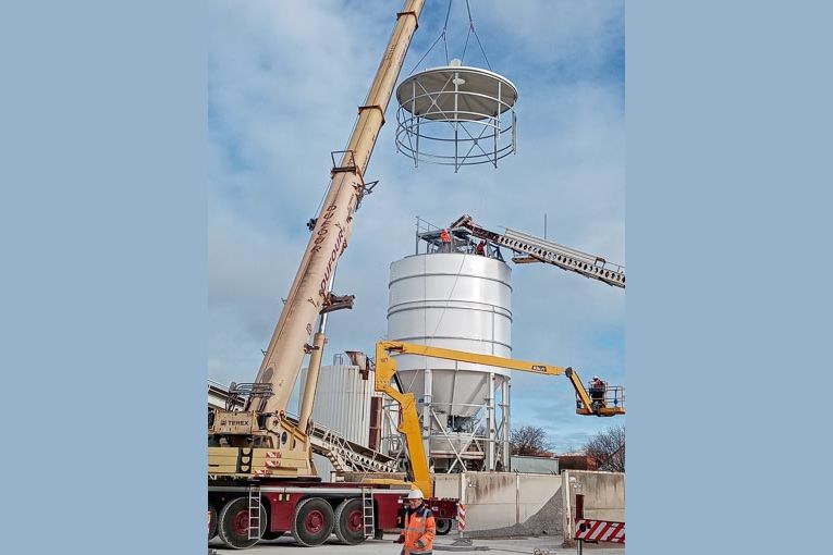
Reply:
[[[291, 531], [302, 545], [319, 545], [331, 532], [359, 543], [396, 527], [406, 482], [324, 483], [311, 462], [309, 416], [326, 343], [329, 312], [352, 308], [352, 296], [331, 291], [335, 267], [355, 214], [375, 182], [365, 178], [384, 123], [384, 111], [425, 0], [406, 0], [345, 150], [332, 153], [331, 181], [308, 227], [309, 242], [254, 383], [238, 384], [229, 405], [208, 415], [209, 538], [234, 548]], [[314, 328], [316, 326], [316, 328]], [[310, 341], [311, 338], [311, 341]], [[286, 415], [305, 355], [310, 355], [298, 421]], [[439, 517], [453, 516], [454, 499], [429, 499]]]

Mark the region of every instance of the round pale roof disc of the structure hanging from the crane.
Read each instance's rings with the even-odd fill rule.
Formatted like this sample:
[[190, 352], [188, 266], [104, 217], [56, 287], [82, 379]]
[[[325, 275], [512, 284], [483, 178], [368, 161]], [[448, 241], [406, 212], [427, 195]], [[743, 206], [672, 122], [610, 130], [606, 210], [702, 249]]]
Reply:
[[479, 121], [512, 109], [517, 88], [494, 72], [449, 65], [411, 75], [396, 89], [396, 100], [403, 110], [426, 120]]

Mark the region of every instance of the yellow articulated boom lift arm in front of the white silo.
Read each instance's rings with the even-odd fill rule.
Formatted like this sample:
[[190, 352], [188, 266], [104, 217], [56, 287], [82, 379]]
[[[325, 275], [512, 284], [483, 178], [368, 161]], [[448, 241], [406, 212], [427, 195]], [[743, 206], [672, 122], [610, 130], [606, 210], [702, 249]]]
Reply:
[[419, 425], [419, 416], [416, 410], [416, 399], [414, 398], [413, 393], [403, 393], [401, 387], [396, 388], [391, 383], [396, 380], [396, 360], [391, 354], [420, 355], [424, 357], [493, 366], [537, 374], [565, 374], [576, 392], [577, 415], [608, 417], [625, 414], [624, 405], [620, 406], [620, 400], [624, 402], [624, 399], [617, 400], [616, 404], [611, 407], [607, 406], [605, 403], [602, 403], [601, 405], [593, 403], [581, 383], [578, 373], [572, 368], [495, 357], [492, 355], [481, 355], [478, 353], [431, 347], [429, 345], [416, 345], [414, 343], [401, 341], [380, 341], [376, 344], [375, 387], [376, 391], [389, 395], [399, 403], [401, 407], [402, 422], [400, 423], [399, 431], [405, 436], [408, 455], [411, 456], [413, 481], [417, 488], [425, 493], [426, 497], [431, 497], [433, 495], [433, 484], [428, 471], [428, 458], [425, 453], [425, 446], [422, 445], [422, 433]]

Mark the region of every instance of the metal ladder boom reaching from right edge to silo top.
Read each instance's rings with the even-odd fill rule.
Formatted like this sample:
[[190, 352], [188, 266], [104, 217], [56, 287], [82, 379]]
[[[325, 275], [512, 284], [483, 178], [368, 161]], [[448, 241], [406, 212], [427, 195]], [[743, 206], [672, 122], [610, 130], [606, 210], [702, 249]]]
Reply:
[[467, 232], [479, 239], [526, 255], [526, 257], [513, 258], [515, 263], [547, 262], [585, 278], [599, 280], [608, 285], [625, 288], [625, 267], [609, 264], [602, 257], [581, 252], [509, 227], [505, 233], [492, 232], [476, 224], [468, 214], [460, 217], [449, 229]]

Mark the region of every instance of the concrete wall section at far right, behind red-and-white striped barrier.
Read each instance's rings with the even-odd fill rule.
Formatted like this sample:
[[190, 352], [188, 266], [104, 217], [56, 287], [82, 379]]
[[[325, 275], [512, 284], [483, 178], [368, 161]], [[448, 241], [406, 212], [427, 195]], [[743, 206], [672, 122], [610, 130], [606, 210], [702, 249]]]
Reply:
[[565, 540], [573, 538], [575, 528], [576, 493], [585, 497], [585, 518], [595, 520], [625, 521], [625, 474], [590, 470], [564, 470], [562, 490], [563, 525]]

